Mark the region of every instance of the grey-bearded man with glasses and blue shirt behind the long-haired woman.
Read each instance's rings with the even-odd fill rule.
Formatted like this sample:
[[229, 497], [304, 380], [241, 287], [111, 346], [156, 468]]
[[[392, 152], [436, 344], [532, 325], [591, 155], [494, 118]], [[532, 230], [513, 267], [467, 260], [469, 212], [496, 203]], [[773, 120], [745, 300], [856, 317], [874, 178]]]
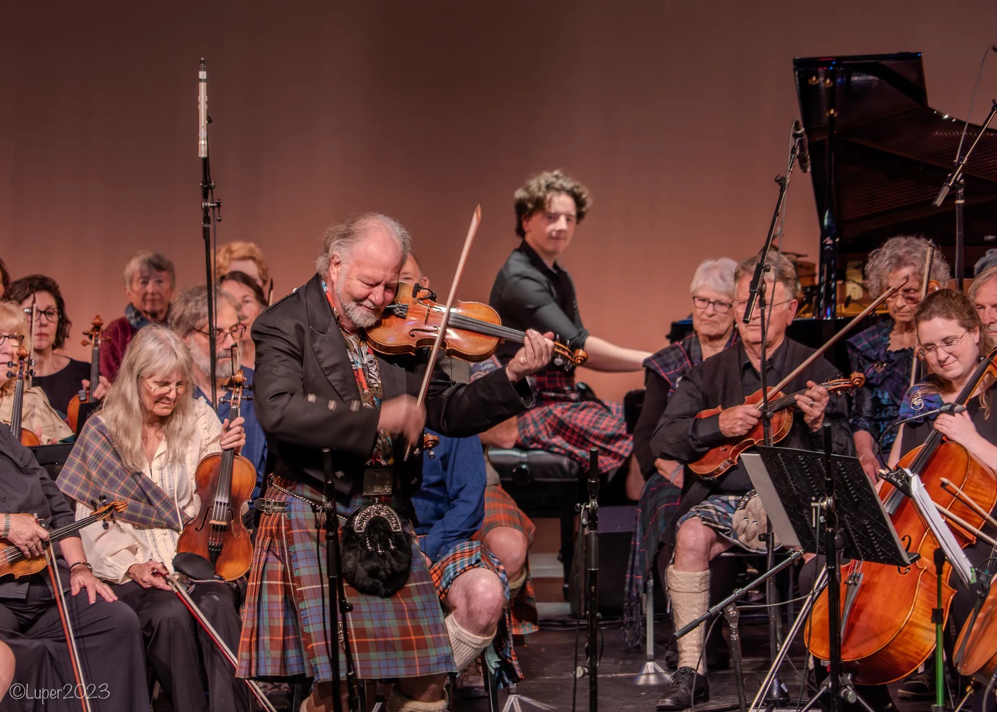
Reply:
[[[245, 336], [246, 327], [239, 314], [239, 303], [224, 289], [215, 291], [215, 324], [214, 324], [214, 377], [217, 402], [213, 405], [219, 420], [228, 417], [231, 408], [230, 399], [225, 391], [225, 385], [232, 377], [232, 345], [237, 345]], [[209, 324], [207, 317], [207, 289], [203, 284], [184, 289], [173, 299], [170, 308], [170, 328], [183, 340], [190, 351], [193, 361], [193, 397], [210, 403], [211, 400], [211, 358], [209, 341]], [[249, 511], [243, 520], [246, 528], [254, 529], [255, 510], [253, 501], [262, 492], [263, 480], [266, 477], [266, 435], [253, 409], [252, 379], [253, 370], [242, 368], [246, 377], [240, 415], [244, 419], [242, 427], [246, 433], [246, 444], [242, 449], [242, 457], [247, 458], [256, 468], [256, 487], [249, 498]]]

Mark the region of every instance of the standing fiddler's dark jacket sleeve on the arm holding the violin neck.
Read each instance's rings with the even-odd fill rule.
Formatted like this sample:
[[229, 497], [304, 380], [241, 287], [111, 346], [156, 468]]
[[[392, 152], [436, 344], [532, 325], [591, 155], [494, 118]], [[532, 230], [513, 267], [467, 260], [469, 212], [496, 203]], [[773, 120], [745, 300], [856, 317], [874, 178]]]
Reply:
[[[409, 372], [408, 391], [418, 395], [421, 372]], [[478, 435], [518, 415], [533, 404], [529, 384], [512, 384], [505, 369], [490, 373], [471, 384], [454, 384], [437, 366], [426, 398], [426, 427], [453, 438]]]

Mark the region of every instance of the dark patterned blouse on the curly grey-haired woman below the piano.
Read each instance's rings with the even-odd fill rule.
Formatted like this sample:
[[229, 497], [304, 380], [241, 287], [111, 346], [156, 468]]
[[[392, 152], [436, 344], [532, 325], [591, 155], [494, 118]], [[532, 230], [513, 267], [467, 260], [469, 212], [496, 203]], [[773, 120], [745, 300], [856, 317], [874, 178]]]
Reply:
[[[878, 442], [883, 431], [896, 421], [900, 402], [910, 382], [912, 348], [889, 348], [893, 320], [886, 319], [859, 331], [845, 344], [851, 370], [865, 376], [865, 385], [855, 390], [851, 408], [851, 431], [864, 430]], [[896, 438], [889, 432], [882, 442], [882, 452], [888, 453]]]

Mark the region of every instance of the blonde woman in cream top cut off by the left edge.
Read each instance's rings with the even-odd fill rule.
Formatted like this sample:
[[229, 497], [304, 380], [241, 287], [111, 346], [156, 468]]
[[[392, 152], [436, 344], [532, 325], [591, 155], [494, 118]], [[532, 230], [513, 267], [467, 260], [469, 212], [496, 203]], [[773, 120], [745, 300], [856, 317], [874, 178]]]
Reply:
[[[22, 345], [31, 351], [27, 314], [15, 302], [0, 302], [0, 422], [5, 424], [11, 422], [14, 414], [18, 351]], [[21, 402], [21, 427], [34, 433], [43, 445], [73, 436], [73, 431], [49, 403], [45, 391], [28, 388], [27, 383]]]

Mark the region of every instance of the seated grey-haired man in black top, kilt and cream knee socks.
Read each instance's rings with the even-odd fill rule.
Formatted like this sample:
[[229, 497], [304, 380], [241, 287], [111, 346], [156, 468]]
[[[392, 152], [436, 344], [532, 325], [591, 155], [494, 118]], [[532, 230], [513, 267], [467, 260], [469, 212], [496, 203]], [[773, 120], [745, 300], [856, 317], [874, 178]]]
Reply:
[[[760, 308], [744, 323], [750, 284], [759, 257], [741, 262], [735, 271], [734, 314], [739, 344], [696, 366], [679, 384], [651, 438], [656, 457], [675, 460], [686, 466], [709, 450], [751, 432], [761, 412], [745, 405], [747, 397], [761, 388], [762, 328]], [[796, 269], [782, 255], [769, 258], [766, 273], [767, 383], [775, 386], [813, 353], [792, 339], [786, 329], [797, 310], [799, 289]], [[844, 399], [830, 401], [821, 383], [837, 374], [831, 363], [818, 359], [786, 387], [785, 392], [803, 391], [796, 396], [796, 409], [790, 433], [781, 447], [803, 450], [823, 448], [822, 426], [831, 423], [833, 450], [850, 453], [851, 431]], [[696, 415], [720, 405], [723, 410], [707, 418]], [[744, 465], [737, 465], [715, 481], [697, 478], [686, 467], [684, 488], [673, 528], [666, 543], [674, 546], [672, 564], [666, 573], [676, 629], [708, 609], [710, 560], [734, 545], [761, 551], [757, 542], [739, 540], [734, 532], [734, 513], [741, 498], [751, 490]], [[701, 662], [703, 628], [678, 641], [679, 669], [658, 699], [659, 710], [682, 710], [709, 699], [706, 668]]]

